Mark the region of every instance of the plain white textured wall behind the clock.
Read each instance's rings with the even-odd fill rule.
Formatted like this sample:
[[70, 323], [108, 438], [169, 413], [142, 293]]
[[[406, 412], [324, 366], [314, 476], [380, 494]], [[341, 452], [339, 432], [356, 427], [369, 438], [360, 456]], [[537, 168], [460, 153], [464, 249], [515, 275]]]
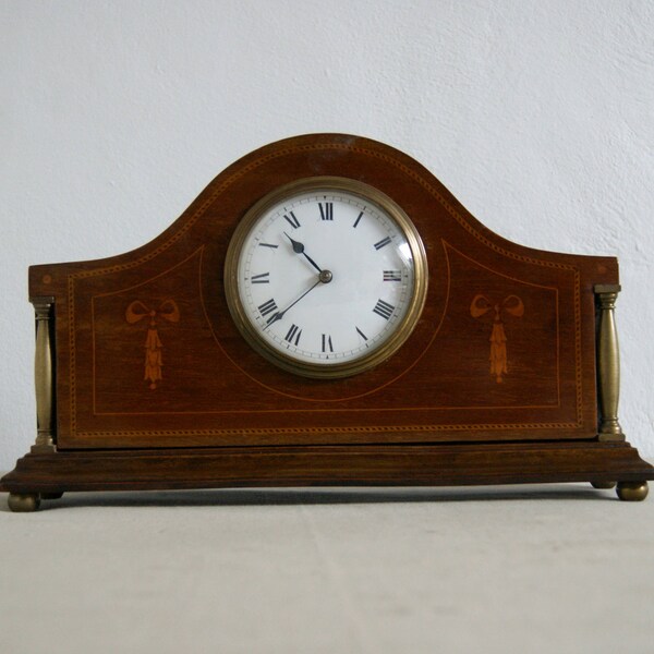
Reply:
[[268, 142], [416, 158], [500, 234], [617, 254], [620, 416], [654, 456], [654, 3], [0, 3], [0, 470], [35, 436], [27, 266], [118, 254]]

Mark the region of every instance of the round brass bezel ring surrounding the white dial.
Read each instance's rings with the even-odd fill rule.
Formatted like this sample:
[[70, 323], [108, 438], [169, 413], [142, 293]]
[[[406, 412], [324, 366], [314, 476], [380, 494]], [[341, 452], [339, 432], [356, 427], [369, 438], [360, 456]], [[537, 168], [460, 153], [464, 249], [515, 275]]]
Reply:
[[[341, 363], [313, 363], [299, 361], [279, 352], [265, 341], [250, 322], [239, 294], [239, 258], [245, 239], [258, 219], [274, 205], [287, 197], [311, 191], [344, 191], [376, 205], [389, 215], [404, 233], [413, 256], [413, 293], [407, 314], [396, 326], [395, 332], [372, 352]], [[359, 180], [340, 177], [312, 177], [295, 180], [275, 189], [247, 210], [237, 226], [225, 259], [225, 294], [231, 316], [247, 343], [262, 356], [277, 366], [301, 375], [319, 379], [350, 377], [368, 371], [389, 359], [407, 341], [422, 314], [427, 294], [427, 257], [417, 229], [404, 210], [388, 195]]]

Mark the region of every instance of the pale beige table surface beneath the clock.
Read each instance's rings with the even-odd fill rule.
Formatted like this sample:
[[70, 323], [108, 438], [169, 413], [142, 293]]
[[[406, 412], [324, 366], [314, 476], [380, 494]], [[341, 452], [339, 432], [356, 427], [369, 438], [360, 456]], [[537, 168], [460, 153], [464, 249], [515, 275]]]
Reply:
[[[654, 495], [654, 494], [653, 494]], [[654, 497], [0, 496], [0, 653], [654, 652]]]

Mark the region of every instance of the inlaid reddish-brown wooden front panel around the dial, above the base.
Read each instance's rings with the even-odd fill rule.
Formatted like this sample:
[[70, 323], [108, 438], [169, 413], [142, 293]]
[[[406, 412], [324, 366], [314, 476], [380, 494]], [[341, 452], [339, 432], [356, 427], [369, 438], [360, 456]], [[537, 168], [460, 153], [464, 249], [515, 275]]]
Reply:
[[[411, 338], [349, 379], [300, 378], [263, 360], [235, 329], [222, 286], [247, 209], [318, 174], [389, 195], [428, 257], [427, 301]], [[33, 267], [29, 290], [56, 299], [58, 445], [105, 448], [592, 438], [593, 286], [617, 282], [615, 258], [538, 252], [493, 234], [388, 146], [312, 135], [238, 161], [137, 251]]]

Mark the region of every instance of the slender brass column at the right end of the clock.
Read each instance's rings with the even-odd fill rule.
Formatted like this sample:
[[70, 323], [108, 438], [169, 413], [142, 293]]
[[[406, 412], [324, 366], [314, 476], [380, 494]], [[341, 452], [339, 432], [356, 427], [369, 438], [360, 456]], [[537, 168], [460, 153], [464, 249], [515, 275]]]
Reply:
[[620, 352], [615, 308], [619, 284], [596, 284], [595, 296], [600, 307], [597, 339], [597, 382], [600, 393], [600, 440], [625, 440], [618, 422], [620, 399]]

